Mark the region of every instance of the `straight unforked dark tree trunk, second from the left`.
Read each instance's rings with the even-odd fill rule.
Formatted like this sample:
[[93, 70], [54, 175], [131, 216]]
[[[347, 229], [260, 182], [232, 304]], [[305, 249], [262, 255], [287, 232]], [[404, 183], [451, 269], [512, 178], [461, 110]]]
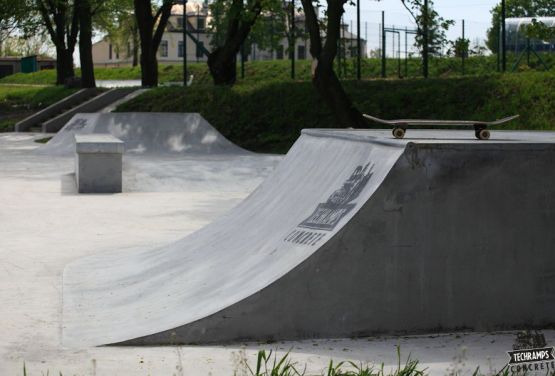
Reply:
[[79, 54], [81, 61], [81, 87], [96, 87], [92, 58], [92, 9], [90, 0], [76, 2], [79, 6]]

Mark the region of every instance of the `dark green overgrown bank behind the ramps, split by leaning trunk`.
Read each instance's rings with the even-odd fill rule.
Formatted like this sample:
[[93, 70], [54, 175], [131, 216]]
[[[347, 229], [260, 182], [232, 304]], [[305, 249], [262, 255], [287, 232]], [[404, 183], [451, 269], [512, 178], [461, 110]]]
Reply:
[[[383, 118], [494, 120], [520, 114], [506, 129], [555, 128], [555, 74], [520, 73], [447, 79], [345, 81], [363, 112]], [[233, 88], [199, 85], [146, 92], [118, 111], [201, 113], [247, 149], [286, 152], [303, 128], [337, 124], [310, 82], [267, 82]], [[374, 125], [369, 124], [369, 127]]]

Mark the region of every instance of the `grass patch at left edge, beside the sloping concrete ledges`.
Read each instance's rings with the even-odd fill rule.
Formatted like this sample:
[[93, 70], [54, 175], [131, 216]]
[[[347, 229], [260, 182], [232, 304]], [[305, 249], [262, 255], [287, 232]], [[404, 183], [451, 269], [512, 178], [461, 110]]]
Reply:
[[0, 132], [11, 131], [19, 120], [48, 107], [77, 89], [61, 86], [0, 85]]

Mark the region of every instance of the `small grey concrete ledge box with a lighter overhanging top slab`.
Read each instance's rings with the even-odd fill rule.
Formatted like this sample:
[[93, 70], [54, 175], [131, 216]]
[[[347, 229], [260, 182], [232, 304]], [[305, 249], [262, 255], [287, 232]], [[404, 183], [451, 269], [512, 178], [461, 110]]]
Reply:
[[123, 141], [110, 134], [76, 134], [75, 179], [79, 193], [120, 193], [123, 149]]

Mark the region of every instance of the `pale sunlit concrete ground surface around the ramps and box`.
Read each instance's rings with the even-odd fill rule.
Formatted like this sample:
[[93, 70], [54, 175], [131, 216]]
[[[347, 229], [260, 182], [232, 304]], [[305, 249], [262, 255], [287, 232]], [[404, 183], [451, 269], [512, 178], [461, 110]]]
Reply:
[[[33, 155], [43, 134], [0, 135], [0, 375], [241, 375], [259, 349], [291, 350], [320, 374], [334, 361], [396, 367], [396, 346], [431, 374], [485, 374], [507, 362], [516, 335], [457, 333], [179, 347], [61, 345], [65, 265], [114, 249], [152, 248], [210, 223], [245, 198], [276, 156], [127, 158], [125, 193], [77, 195], [73, 160]], [[544, 331], [548, 345], [555, 331]], [[301, 368], [303, 368], [301, 366]]]

